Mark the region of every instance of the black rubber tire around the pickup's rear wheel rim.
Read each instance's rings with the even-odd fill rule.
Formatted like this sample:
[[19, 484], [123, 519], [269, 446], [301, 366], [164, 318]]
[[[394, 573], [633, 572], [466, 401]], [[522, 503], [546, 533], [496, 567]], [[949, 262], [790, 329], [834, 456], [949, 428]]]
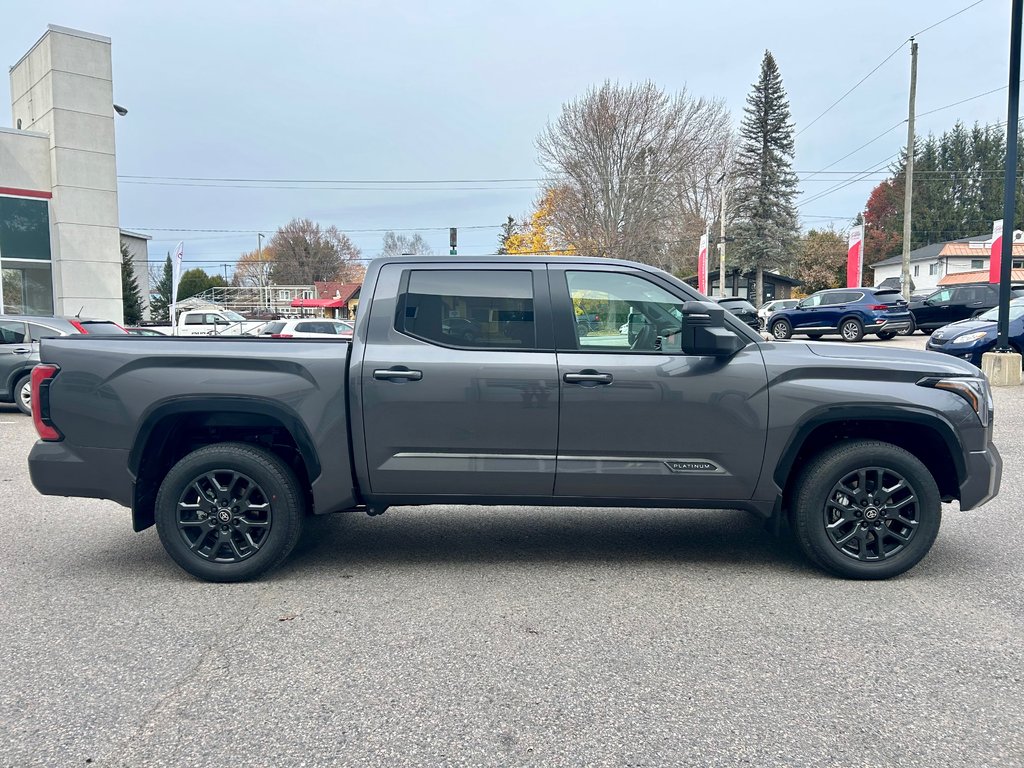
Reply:
[[[240, 562], [211, 562], [196, 555], [177, 527], [178, 500], [188, 483], [214, 470], [251, 477], [270, 501], [271, 523], [259, 551]], [[276, 456], [244, 443], [218, 443], [188, 454], [167, 473], [157, 494], [157, 532], [167, 554], [185, 571], [208, 582], [255, 579], [278, 565], [298, 541], [303, 516], [295, 474]]]

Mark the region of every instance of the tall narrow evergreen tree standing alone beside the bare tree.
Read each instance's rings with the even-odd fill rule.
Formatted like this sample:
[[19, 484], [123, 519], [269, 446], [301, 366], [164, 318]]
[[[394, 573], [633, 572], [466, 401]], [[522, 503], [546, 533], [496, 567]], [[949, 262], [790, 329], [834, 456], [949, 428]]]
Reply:
[[755, 305], [764, 301], [764, 270], [792, 264], [800, 227], [794, 199], [793, 122], [782, 76], [771, 51], [765, 51], [761, 76], [746, 97], [739, 126], [732, 249], [739, 267], [757, 272]]

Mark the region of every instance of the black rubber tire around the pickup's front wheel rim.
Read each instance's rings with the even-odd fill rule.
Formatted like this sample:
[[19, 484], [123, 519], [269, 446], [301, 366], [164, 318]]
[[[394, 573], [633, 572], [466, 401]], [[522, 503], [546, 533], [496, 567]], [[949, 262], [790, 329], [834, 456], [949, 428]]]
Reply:
[[[843, 476], [870, 466], [892, 469], [906, 479], [918, 497], [920, 523], [903, 550], [885, 560], [862, 562], [831, 543], [824, 504]], [[931, 472], [911, 454], [889, 443], [858, 441], [837, 446], [807, 467], [798, 481], [792, 520], [798, 544], [818, 565], [848, 579], [889, 579], [912, 568], [931, 550], [942, 522], [942, 503]]]

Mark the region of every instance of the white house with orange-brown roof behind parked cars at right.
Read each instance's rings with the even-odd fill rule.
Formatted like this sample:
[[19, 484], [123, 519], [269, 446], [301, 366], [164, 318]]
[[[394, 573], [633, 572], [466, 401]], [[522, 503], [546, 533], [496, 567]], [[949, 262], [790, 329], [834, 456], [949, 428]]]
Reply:
[[[947, 274], [961, 272], [984, 272], [978, 280], [988, 282], [988, 254], [992, 248], [991, 234], [953, 240], [948, 243], [933, 243], [910, 251], [910, 280], [913, 290], [926, 291], [935, 288]], [[1014, 232], [1014, 268], [1024, 267], [1024, 232]], [[895, 279], [898, 285], [903, 271], [903, 257], [880, 261], [871, 266], [874, 270], [874, 286], [886, 280]], [[944, 285], [944, 284], [943, 284]]]

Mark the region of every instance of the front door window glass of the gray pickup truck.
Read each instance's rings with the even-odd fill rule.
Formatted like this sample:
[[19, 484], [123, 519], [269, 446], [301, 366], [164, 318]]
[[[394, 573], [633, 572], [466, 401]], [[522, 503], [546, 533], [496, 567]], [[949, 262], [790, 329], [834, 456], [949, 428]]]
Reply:
[[624, 272], [565, 273], [583, 351], [680, 352], [682, 300]]

